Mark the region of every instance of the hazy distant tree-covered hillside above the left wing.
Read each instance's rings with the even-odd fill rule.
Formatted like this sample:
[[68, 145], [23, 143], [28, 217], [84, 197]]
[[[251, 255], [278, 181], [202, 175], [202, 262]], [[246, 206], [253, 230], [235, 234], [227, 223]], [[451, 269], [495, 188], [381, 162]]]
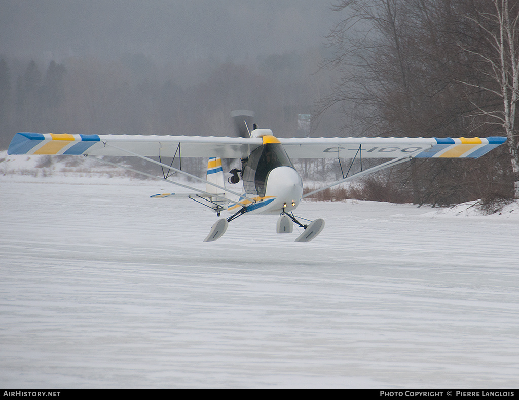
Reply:
[[295, 136], [298, 115], [312, 114], [312, 99], [322, 91], [323, 79], [312, 75], [321, 57], [313, 49], [249, 63], [200, 60], [192, 66], [197, 78], [188, 82], [185, 71], [158, 67], [143, 54], [48, 65], [31, 60], [22, 67], [3, 57], [0, 148], [20, 131], [234, 135], [235, 109], [251, 109], [260, 126]]

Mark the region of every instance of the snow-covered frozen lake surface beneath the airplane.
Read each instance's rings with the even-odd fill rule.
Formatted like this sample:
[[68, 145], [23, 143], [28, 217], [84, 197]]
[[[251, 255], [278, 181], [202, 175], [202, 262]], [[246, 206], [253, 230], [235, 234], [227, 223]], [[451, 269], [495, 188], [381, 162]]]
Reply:
[[[22, 182], [25, 180], [26, 182]], [[519, 211], [303, 202], [309, 243], [150, 199], [0, 176], [0, 385], [517, 388]]]

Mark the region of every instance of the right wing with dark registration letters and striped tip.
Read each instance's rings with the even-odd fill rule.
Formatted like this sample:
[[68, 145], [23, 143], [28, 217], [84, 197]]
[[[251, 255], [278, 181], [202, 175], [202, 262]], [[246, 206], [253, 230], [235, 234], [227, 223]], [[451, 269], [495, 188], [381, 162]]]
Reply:
[[[279, 141], [290, 158], [478, 158], [506, 137], [320, 137]], [[420, 151], [422, 150], [422, 151]], [[417, 153], [418, 152], [418, 153]]]

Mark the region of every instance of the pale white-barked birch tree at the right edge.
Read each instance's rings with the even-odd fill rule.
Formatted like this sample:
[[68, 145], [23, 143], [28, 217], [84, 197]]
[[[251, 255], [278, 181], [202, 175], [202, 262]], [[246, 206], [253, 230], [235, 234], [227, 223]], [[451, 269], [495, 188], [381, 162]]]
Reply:
[[519, 3], [508, 0], [491, 0], [493, 7], [471, 19], [483, 32], [487, 46], [466, 47], [484, 61], [479, 68], [485, 83], [465, 84], [483, 89], [500, 99], [502, 106], [489, 109], [473, 102], [477, 115], [489, 118], [487, 123], [502, 126], [508, 138], [514, 180], [514, 198], [519, 199], [519, 131], [517, 102], [519, 101]]

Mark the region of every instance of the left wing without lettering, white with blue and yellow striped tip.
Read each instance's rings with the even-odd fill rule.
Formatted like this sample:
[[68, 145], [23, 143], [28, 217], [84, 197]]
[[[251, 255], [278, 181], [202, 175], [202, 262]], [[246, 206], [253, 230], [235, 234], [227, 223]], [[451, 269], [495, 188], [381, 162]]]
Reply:
[[71, 135], [17, 133], [7, 154], [245, 158], [261, 138], [167, 135]]

